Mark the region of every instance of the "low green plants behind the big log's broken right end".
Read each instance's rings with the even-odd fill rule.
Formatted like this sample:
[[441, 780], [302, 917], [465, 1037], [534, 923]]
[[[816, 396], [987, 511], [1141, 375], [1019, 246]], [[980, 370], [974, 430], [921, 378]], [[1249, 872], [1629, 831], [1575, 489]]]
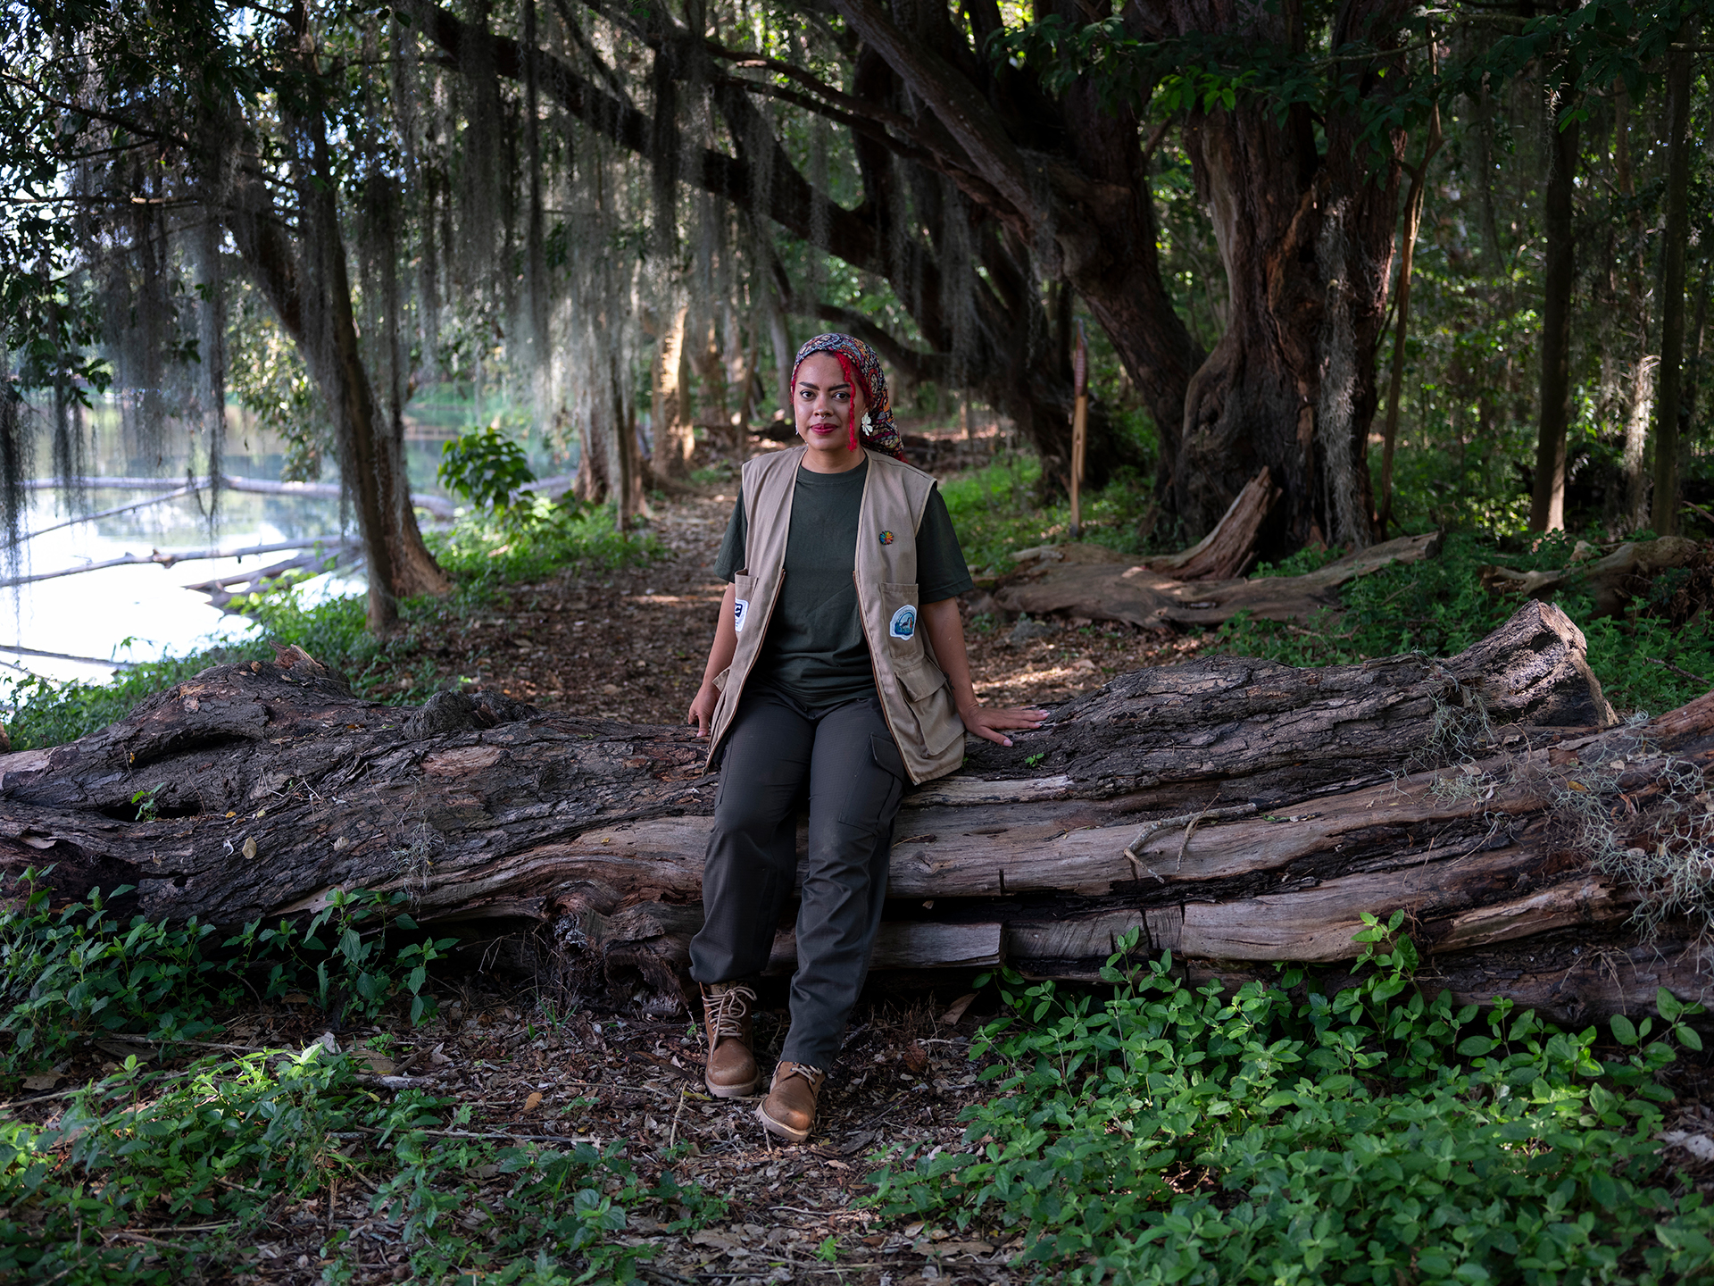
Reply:
[[[1567, 566], [1575, 540], [1553, 533], [1534, 549], [1505, 550], [1469, 533], [1448, 535], [1438, 557], [1411, 566], [1383, 568], [1344, 586], [1340, 612], [1327, 612], [1303, 626], [1232, 617], [1215, 633], [1215, 646], [1244, 657], [1268, 657], [1289, 665], [1349, 665], [1373, 657], [1424, 652], [1450, 657], [1486, 634], [1517, 610], [1519, 600], [1483, 588], [1481, 568], [1505, 564], [1519, 571]], [[1299, 552], [1270, 574], [1294, 574]], [[1308, 569], [1308, 568], [1304, 568]], [[1558, 598], [1589, 641], [1589, 664], [1609, 701], [1620, 710], [1671, 710], [1707, 691], [1685, 677], [1714, 677], [1714, 636], [1678, 629], [1644, 600], [1623, 619], [1592, 619], [1587, 595], [1572, 586]], [[1659, 662], [1676, 665], [1678, 670]]]

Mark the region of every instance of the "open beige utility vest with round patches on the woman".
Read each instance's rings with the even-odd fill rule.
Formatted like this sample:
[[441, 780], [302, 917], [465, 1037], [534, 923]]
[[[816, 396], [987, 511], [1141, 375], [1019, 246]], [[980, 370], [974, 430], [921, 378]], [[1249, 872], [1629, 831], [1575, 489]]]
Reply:
[[[744, 465], [744, 571], [734, 576], [734, 626], [739, 646], [722, 676], [708, 758], [732, 727], [744, 681], [785, 580], [785, 540], [792, 530], [792, 492], [807, 448], [770, 451]], [[891, 456], [869, 451], [862, 506], [857, 513], [857, 610], [869, 640], [874, 686], [893, 741], [912, 782], [944, 777], [963, 763], [963, 722], [951, 684], [922, 634], [917, 602], [917, 526], [934, 478]], [[722, 682], [716, 679], [716, 682]]]

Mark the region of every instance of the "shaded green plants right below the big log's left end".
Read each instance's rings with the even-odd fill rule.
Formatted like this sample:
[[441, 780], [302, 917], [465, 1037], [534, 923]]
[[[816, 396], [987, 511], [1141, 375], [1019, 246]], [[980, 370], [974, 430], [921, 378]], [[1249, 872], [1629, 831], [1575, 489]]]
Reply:
[[0, 910], [0, 1032], [12, 1036], [0, 1070], [51, 1061], [101, 1032], [192, 1041], [247, 995], [305, 991], [324, 1012], [365, 1019], [408, 998], [418, 1022], [434, 1012], [428, 965], [452, 945], [422, 938], [387, 950], [389, 931], [417, 931], [405, 893], [336, 888], [303, 926], [255, 922], [216, 945], [214, 928], [195, 919], [117, 922], [108, 902], [130, 885], [53, 910], [36, 880], [31, 868], [10, 881]]

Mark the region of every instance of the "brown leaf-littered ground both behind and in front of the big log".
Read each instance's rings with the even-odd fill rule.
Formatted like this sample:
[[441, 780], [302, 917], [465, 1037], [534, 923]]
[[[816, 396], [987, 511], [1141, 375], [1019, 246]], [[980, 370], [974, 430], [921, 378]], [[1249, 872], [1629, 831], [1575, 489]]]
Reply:
[[[696, 691], [723, 590], [713, 561], [732, 499], [727, 482], [656, 502], [651, 532], [662, 554], [646, 566], [566, 569], [504, 586], [476, 617], [449, 622], [439, 634], [420, 633], [413, 646], [427, 648], [437, 684], [466, 679], [545, 710], [679, 724]], [[1205, 645], [1128, 626], [1028, 626], [1015, 638], [1006, 622], [967, 616], [972, 672], [984, 701], [1059, 703], [1111, 674], [1174, 664]], [[423, 676], [417, 665], [417, 691], [408, 701], [427, 694]], [[165, 1060], [151, 1058], [159, 1046], [149, 1041], [98, 1039], [58, 1061], [51, 1075], [31, 1077], [22, 1094], [0, 1106], [36, 1127], [65, 1127], [67, 1106], [77, 1103], [69, 1097], [74, 1087], [122, 1077], [118, 1063], [127, 1055], [165, 1073], [161, 1084], [168, 1084], [195, 1055], [242, 1058], [309, 1049], [317, 1041], [367, 1073], [410, 1077], [413, 1089], [435, 1101], [422, 1147], [444, 1151], [415, 1171], [401, 1166], [405, 1149], [389, 1151], [394, 1145], [377, 1139], [381, 1132], [358, 1125], [315, 1149], [310, 1168], [321, 1178], [305, 1188], [309, 1195], [257, 1193], [257, 1221], [247, 1221], [242, 1235], [221, 1231], [237, 1224], [187, 1226], [185, 1212], [171, 1216], [161, 1202], [127, 1211], [118, 1216], [123, 1226], [99, 1233], [106, 1247], [137, 1250], [142, 1271], [158, 1272], [183, 1264], [173, 1247], [183, 1247], [187, 1236], [209, 1236], [211, 1250], [194, 1252], [192, 1277], [199, 1281], [476, 1281], [494, 1269], [500, 1229], [518, 1231], [516, 1193], [511, 1205], [507, 1193], [524, 1164], [521, 1152], [622, 1144], [638, 1195], [626, 1197], [629, 1219], [605, 1240], [639, 1255], [643, 1281], [1023, 1283], [1037, 1271], [1016, 1262], [1023, 1243], [1013, 1229], [960, 1231], [886, 1217], [866, 1202], [876, 1192], [871, 1173], [879, 1152], [956, 1145], [962, 1111], [989, 1096], [989, 1082], [977, 1079], [980, 1065], [968, 1055], [979, 1024], [992, 1017], [992, 1008], [982, 1007], [996, 1001], [987, 991], [974, 1008], [962, 1008], [962, 981], [943, 981], [938, 993], [926, 983], [871, 981], [830, 1068], [821, 1118], [802, 1147], [782, 1145], [761, 1130], [754, 1116], [759, 1099], [708, 1096], [692, 1019], [612, 1012], [607, 998], [566, 1012], [536, 979], [468, 969], [435, 977], [430, 989], [440, 1010], [417, 1027], [387, 1017], [381, 1025], [353, 1022], [327, 1031], [329, 1017], [291, 993], [225, 1015], [218, 1032], [204, 1034], [213, 1044], [178, 1044]], [[785, 1024], [785, 983], [768, 979], [756, 1024], [764, 1068], [778, 1056]], [[1678, 1103], [1668, 1123], [1700, 1139], [1714, 1130], [1707, 1073], [1675, 1073]], [[372, 1097], [384, 1109], [410, 1096], [393, 1099], [375, 1085], [353, 1097]], [[1702, 1154], [1697, 1159], [1714, 1164]], [[706, 1205], [698, 1212], [643, 1195], [662, 1176], [698, 1190]], [[415, 1195], [410, 1183], [420, 1183]], [[612, 1180], [608, 1192], [617, 1188]], [[420, 1205], [413, 1209], [411, 1200]], [[555, 1202], [555, 1212], [566, 1205]], [[425, 1223], [423, 1209], [439, 1209], [439, 1216]]]

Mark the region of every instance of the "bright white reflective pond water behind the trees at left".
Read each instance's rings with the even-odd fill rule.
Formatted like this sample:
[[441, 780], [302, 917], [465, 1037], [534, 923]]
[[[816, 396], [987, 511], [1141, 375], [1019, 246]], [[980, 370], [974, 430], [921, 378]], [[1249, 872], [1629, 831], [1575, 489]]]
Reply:
[[[492, 418], [497, 412], [492, 400], [488, 403], [483, 412]], [[420, 413], [406, 418], [406, 466], [411, 490], [444, 494], [434, 477], [440, 463], [440, 446], [476, 422], [475, 406], [442, 396], [432, 405], [413, 406], [413, 412]], [[166, 430], [166, 442], [178, 448], [178, 454], [163, 456], [144, 454], [135, 442], [125, 441], [127, 434], [122, 432], [118, 412], [111, 403], [98, 405], [89, 415], [89, 425], [91, 466], [103, 477], [183, 478], [192, 468], [197, 473], [206, 470], [201, 451], [195, 460], [185, 453], [183, 448], [190, 439], [178, 427], [168, 425]], [[259, 432], [237, 408], [228, 412], [228, 425], [225, 472], [235, 477], [278, 478], [285, 460], [283, 444]], [[538, 473], [566, 468], [562, 454], [554, 454], [540, 444], [531, 448], [531, 466]], [[50, 472], [43, 444], [36, 477], [48, 477]], [[338, 478], [329, 470], [322, 480]], [[93, 490], [87, 509], [111, 509], [149, 497], [149, 492]], [[336, 499], [221, 492], [213, 525], [204, 513], [206, 504], [206, 496], [187, 496], [75, 523], [58, 532], [45, 532], [24, 544], [19, 573], [62, 571], [123, 554], [147, 556], [151, 550], [243, 549], [288, 540], [309, 544], [315, 538], [357, 533], [355, 516], [343, 514]], [[24, 530], [39, 532], [69, 516], [55, 492], [34, 492]], [[237, 571], [255, 571], [288, 557], [291, 556], [286, 552], [276, 552], [245, 559], [178, 562], [171, 568], [156, 564], [106, 568], [0, 592], [0, 664], [7, 664], [9, 669], [3, 672], [14, 676], [17, 669], [12, 667], [21, 667], [53, 679], [101, 681], [110, 674], [110, 667], [22, 657], [7, 652], [5, 645], [17, 643], [38, 652], [75, 657], [156, 660], [168, 653], [194, 652], [221, 638], [254, 634], [254, 624], [225, 616], [209, 605], [204, 595], [183, 586]], [[345, 568], [307, 581], [300, 595], [303, 602], [321, 602], [331, 595], [363, 590], [362, 569]]]

